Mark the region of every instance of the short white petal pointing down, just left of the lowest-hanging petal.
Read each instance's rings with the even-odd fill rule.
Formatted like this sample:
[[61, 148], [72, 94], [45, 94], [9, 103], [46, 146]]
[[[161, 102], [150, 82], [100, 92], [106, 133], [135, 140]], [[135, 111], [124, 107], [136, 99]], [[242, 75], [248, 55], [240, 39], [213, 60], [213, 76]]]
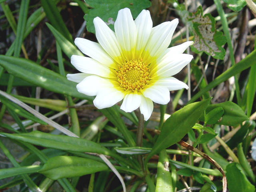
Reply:
[[120, 109], [124, 110], [125, 112], [132, 112], [136, 110], [140, 106], [141, 97], [141, 95], [135, 93], [127, 94], [124, 96]]

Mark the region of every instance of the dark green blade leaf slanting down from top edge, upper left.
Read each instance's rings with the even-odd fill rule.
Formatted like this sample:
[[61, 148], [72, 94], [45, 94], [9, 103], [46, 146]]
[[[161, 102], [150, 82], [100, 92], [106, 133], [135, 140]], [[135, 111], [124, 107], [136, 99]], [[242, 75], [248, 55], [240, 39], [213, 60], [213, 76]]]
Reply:
[[73, 43], [73, 38], [68, 28], [66, 27], [60, 12], [52, 0], [41, 0], [41, 4], [46, 13], [46, 17], [51, 22], [51, 24], [60, 32], [67, 40]]

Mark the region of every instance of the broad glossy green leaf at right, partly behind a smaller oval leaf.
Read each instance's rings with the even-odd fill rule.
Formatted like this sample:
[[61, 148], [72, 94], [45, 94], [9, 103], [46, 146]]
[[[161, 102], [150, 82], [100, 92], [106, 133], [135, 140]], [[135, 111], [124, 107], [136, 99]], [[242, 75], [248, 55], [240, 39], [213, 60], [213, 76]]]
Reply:
[[[221, 107], [224, 110], [224, 113], [222, 117], [216, 122], [216, 124], [236, 126], [248, 119], [246, 114], [244, 114], [244, 111], [237, 104], [231, 101], [209, 105], [206, 108], [206, 114], [219, 107]], [[222, 111], [220, 110], [220, 114], [221, 113]]]

